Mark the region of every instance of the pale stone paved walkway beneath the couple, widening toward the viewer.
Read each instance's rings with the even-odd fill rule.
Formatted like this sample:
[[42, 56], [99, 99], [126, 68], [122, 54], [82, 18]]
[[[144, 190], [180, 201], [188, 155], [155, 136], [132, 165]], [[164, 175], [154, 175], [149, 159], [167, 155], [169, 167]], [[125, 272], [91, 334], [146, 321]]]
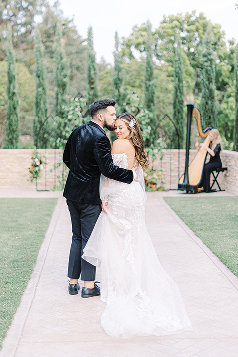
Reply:
[[[238, 357], [238, 279], [163, 200], [179, 194], [149, 193], [146, 222], [162, 266], [179, 285], [193, 331], [125, 340], [103, 331], [99, 297], [67, 292], [71, 223], [61, 193], [0, 190], [0, 197], [59, 197], [0, 357]], [[212, 195], [218, 194], [228, 195]]]

